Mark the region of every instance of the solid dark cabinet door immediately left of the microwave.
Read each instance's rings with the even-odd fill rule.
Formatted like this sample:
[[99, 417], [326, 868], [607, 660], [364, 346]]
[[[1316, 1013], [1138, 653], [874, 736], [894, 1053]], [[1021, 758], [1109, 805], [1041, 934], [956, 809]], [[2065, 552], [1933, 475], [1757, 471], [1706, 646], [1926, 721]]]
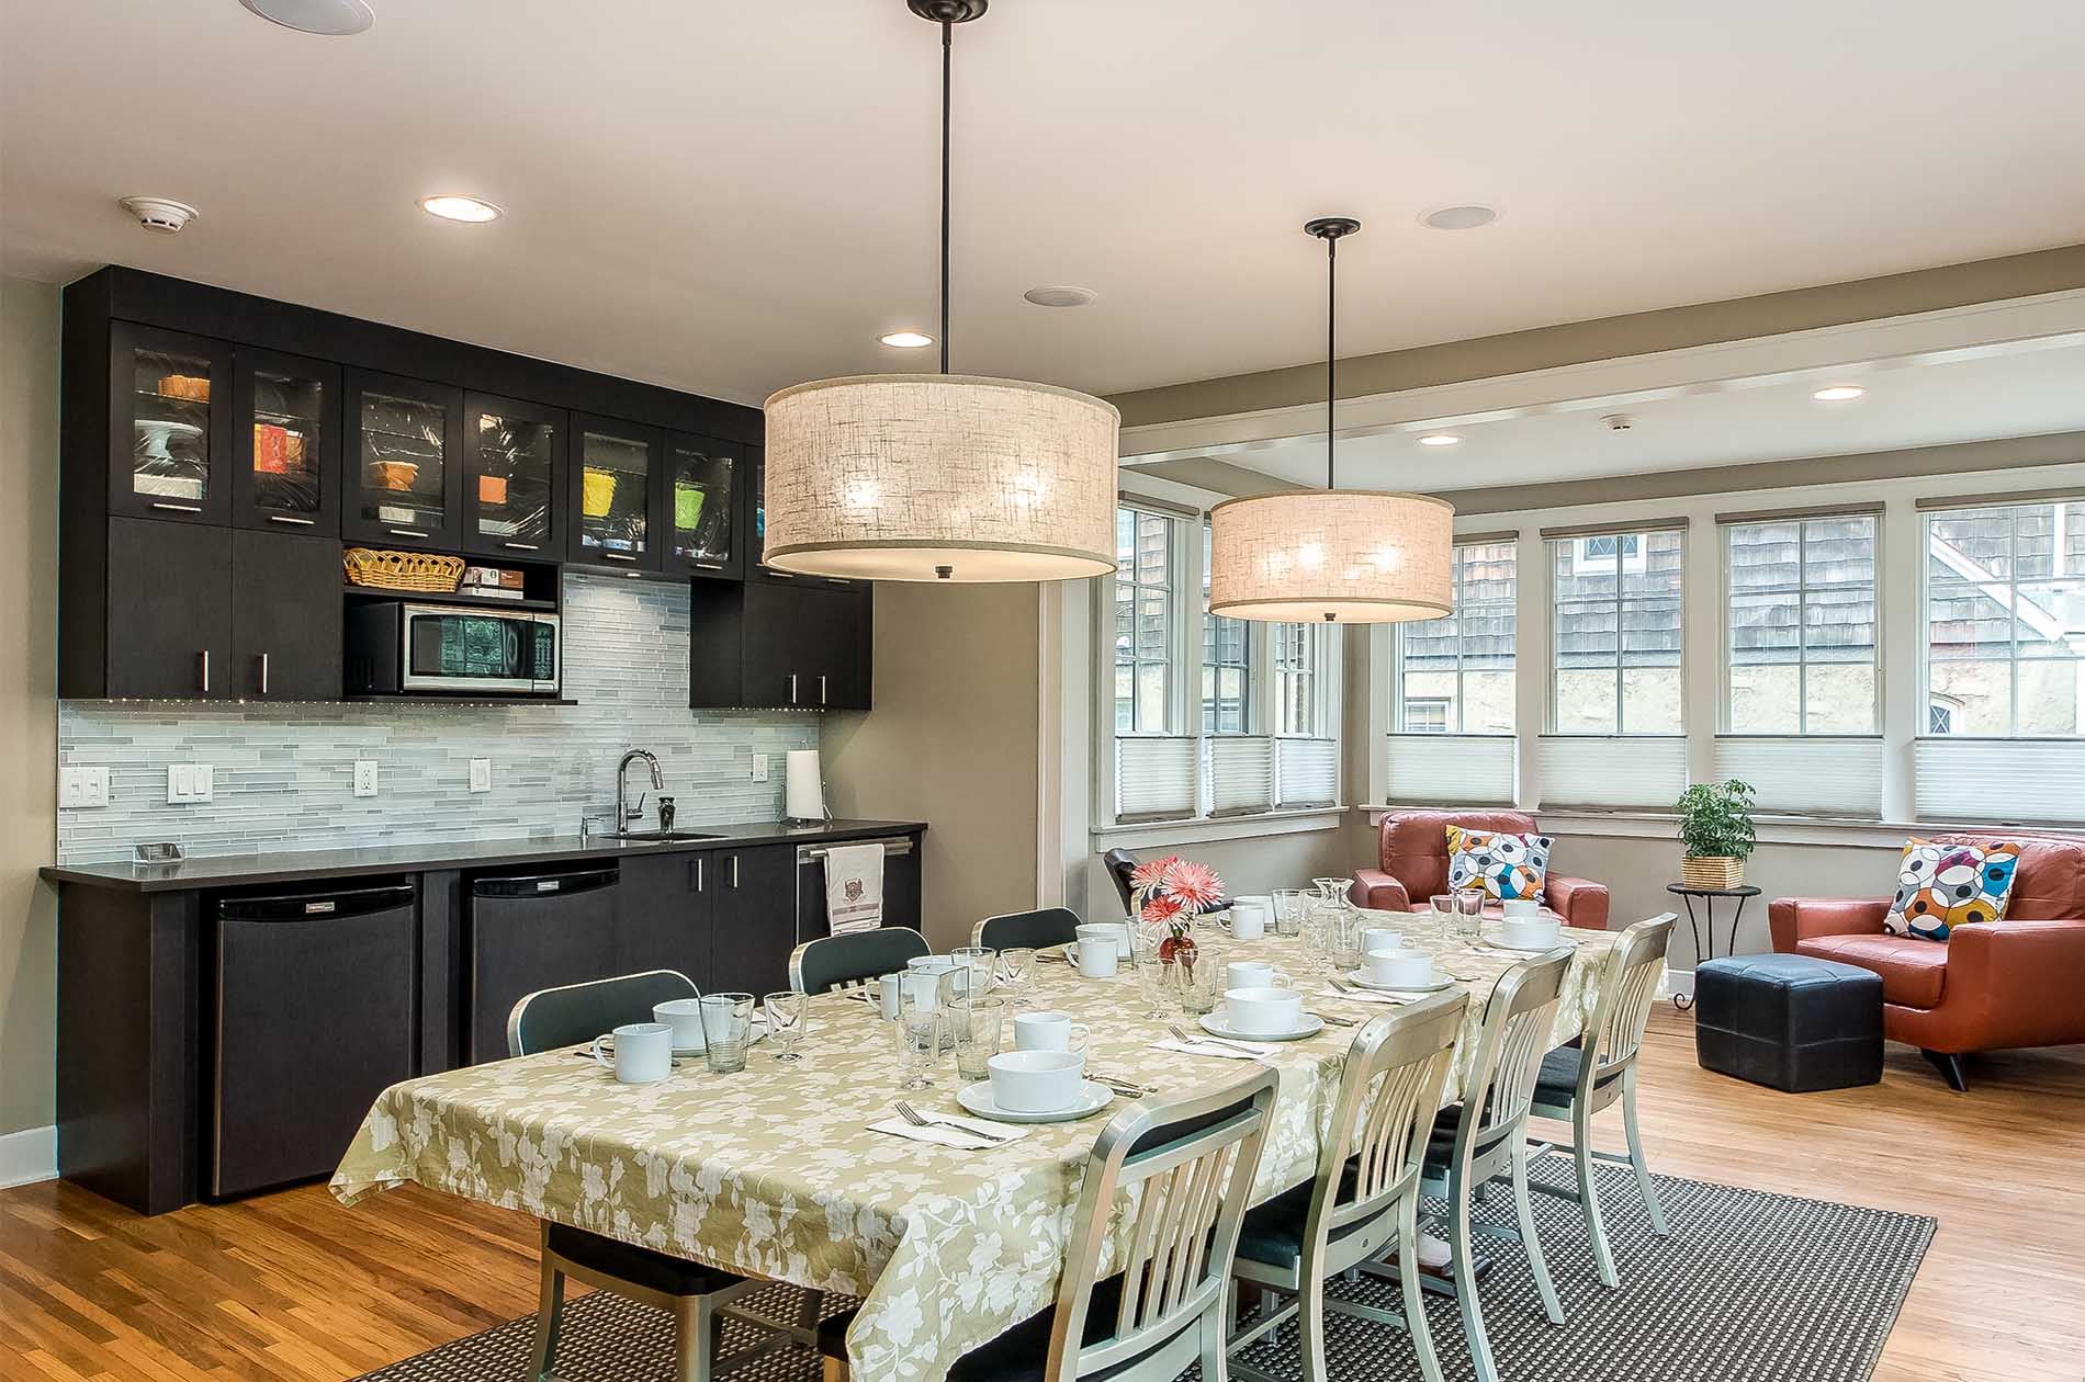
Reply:
[[340, 540], [238, 529], [229, 588], [229, 694], [340, 700]]

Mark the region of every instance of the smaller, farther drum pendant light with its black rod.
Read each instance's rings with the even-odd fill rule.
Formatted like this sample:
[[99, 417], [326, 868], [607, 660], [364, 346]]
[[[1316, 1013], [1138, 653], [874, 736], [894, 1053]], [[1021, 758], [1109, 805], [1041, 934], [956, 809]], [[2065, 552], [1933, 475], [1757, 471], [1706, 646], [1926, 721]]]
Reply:
[[1226, 498], [1209, 511], [1209, 613], [1230, 619], [1403, 623], [1453, 613], [1455, 509], [1426, 494], [1341, 490], [1339, 242], [1351, 217], [1303, 227], [1326, 250], [1324, 490]]

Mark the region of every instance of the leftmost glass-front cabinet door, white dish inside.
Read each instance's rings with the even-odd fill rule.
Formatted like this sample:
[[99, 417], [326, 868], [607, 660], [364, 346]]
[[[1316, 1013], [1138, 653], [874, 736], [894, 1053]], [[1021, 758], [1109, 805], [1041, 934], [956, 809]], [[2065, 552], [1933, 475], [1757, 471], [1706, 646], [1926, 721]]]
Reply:
[[108, 511], [223, 523], [231, 511], [231, 346], [111, 327]]

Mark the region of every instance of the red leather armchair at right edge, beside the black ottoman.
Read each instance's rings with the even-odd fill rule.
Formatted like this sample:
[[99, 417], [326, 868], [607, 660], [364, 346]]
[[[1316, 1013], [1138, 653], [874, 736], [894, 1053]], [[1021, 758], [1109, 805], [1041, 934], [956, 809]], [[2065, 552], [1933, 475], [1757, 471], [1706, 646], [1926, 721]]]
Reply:
[[1774, 948], [1883, 976], [1883, 1036], [1924, 1051], [1958, 1090], [1964, 1053], [2085, 1042], [2085, 838], [2022, 844], [2004, 921], [1960, 926], [1939, 944], [1885, 934], [1887, 900], [1791, 896], [1766, 905]]

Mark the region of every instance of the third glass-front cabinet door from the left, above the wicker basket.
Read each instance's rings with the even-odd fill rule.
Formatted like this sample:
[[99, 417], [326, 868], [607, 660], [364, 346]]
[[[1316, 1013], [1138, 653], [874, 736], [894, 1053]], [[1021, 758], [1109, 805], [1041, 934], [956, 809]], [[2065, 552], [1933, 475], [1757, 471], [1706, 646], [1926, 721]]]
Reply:
[[373, 546], [459, 548], [463, 390], [350, 369], [342, 392], [342, 534]]

